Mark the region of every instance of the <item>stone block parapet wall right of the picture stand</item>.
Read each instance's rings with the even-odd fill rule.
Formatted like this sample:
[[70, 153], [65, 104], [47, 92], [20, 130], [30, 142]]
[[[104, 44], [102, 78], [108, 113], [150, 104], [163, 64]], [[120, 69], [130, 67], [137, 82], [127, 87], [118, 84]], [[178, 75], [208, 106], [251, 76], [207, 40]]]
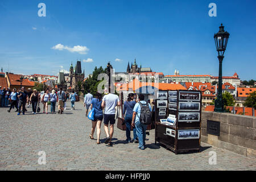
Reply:
[[[202, 111], [201, 141], [256, 158], [256, 117]], [[207, 120], [220, 122], [220, 136], [207, 132]]]

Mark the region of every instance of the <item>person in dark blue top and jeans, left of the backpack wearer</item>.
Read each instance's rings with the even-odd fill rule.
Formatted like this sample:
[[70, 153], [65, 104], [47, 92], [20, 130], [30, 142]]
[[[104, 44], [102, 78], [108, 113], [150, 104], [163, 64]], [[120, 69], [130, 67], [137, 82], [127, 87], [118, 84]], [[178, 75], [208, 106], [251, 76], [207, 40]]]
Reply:
[[131, 140], [131, 120], [133, 119], [133, 108], [136, 104], [136, 101], [134, 101], [134, 93], [129, 93], [127, 101], [123, 104], [123, 121], [125, 121], [126, 124], [126, 142], [137, 142], [137, 134], [135, 127], [133, 128], [133, 140]]

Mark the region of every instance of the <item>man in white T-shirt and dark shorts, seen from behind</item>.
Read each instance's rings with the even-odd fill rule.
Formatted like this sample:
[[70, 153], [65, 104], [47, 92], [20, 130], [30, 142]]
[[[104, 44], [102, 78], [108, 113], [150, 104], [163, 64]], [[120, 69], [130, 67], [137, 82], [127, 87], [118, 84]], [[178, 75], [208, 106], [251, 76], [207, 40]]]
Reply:
[[[115, 106], [120, 106], [120, 101], [117, 95], [109, 93], [102, 98], [101, 107], [104, 109], [104, 130], [107, 135], [105, 143], [110, 146], [112, 145], [112, 138], [114, 134], [114, 123], [115, 123]], [[109, 133], [110, 123], [110, 133]]]

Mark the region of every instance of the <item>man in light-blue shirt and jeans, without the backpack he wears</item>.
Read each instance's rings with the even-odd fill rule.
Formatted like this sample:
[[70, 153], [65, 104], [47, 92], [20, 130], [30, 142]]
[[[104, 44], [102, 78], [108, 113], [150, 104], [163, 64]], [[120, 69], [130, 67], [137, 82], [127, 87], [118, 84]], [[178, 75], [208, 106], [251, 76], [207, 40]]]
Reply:
[[139, 94], [139, 102], [135, 104], [133, 109], [133, 121], [131, 122], [131, 126], [136, 127], [137, 136], [139, 139], [139, 146], [138, 148], [141, 150], [145, 149], [145, 140], [146, 140], [146, 129], [147, 125], [144, 125], [139, 121], [141, 117], [141, 110], [142, 107], [147, 107], [152, 111], [151, 106], [148, 102], [144, 101], [143, 94]]

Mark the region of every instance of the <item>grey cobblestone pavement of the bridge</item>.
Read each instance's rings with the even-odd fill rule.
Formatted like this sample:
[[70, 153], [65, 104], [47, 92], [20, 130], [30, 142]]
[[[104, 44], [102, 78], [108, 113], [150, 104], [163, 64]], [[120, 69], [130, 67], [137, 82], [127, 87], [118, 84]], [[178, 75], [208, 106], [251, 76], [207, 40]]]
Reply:
[[[200, 153], [175, 155], [154, 144], [154, 130], [147, 136], [146, 149], [125, 142], [125, 131], [114, 126], [113, 146], [106, 146], [104, 125], [101, 144], [89, 138], [91, 121], [81, 103], [64, 114], [17, 116], [0, 107], [0, 170], [256, 170], [256, 159], [246, 158], [201, 143]], [[41, 104], [42, 111], [42, 104]], [[94, 134], [96, 138], [96, 134]], [[46, 164], [39, 165], [39, 151], [46, 152]], [[217, 153], [217, 164], [209, 164], [209, 152]]]

